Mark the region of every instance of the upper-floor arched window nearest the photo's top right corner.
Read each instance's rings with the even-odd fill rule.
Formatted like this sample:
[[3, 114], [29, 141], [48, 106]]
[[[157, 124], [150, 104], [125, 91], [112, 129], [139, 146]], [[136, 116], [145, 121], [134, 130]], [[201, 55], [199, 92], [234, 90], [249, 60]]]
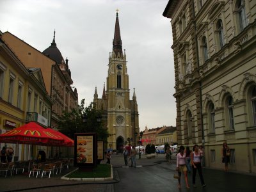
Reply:
[[246, 27], [246, 14], [244, 9], [244, 0], [236, 1], [236, 12], [237, 12], [237, 21], [239, 24], [239, 32], [243, 31]]

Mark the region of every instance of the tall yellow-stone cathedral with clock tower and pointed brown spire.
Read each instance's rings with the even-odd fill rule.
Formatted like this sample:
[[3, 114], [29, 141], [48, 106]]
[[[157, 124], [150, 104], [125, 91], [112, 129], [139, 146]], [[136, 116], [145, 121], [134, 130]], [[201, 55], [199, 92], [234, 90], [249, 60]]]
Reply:
[[95, 88], [93, 103], [102, 111], [102, 121], [108, 129], [108, 148], [122, 149], [126, 143], [136, 145], [139, 139], [139, 113], [135, 89], [130, 100], [129, 76], [122, 40], [118, 12], [116, 12], [113, 50], [109, 52], [108, 77], [101, 99]]

